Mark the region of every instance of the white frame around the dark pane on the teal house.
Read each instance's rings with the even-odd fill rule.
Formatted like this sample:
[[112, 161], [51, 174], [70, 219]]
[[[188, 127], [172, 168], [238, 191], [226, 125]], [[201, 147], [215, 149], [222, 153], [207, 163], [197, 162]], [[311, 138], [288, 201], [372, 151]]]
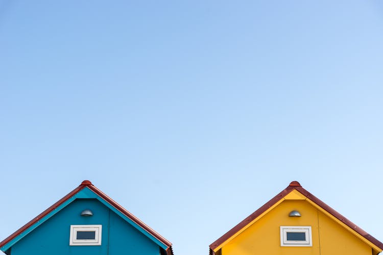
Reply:
[[[94, 239], [77, 239], [78, 231], [95, 232]], [[101, 245], [102, 225], [70, 225], [69, 245]]]

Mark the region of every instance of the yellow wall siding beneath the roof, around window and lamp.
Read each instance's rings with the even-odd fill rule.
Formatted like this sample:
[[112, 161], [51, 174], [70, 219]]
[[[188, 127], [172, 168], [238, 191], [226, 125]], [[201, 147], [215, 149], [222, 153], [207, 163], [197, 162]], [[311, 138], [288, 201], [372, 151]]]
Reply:
[[[298, 198], [294, 194], [291, 198]], [[286, 197], [288, 198], [288, 197]], [[288, 199], [289, 199], [288, 198]], [[222, 255], [371, 255], [371, 247], [306, 200], [284, 200], [222, 247]], [[298, 198], [299, 199], [299, 198]], [[289, 217], [298, 210], [302, 217]], [[312, 226], [312, 247], [280, 246], [280, 226]]]

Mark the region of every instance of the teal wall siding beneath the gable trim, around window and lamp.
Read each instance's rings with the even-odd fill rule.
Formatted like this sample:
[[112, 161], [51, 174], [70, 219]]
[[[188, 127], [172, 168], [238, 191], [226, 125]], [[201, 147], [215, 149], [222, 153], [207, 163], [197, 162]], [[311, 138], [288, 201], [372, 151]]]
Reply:
[[[90, 209], [93, 216], [80, 213]], [[69, 246], [70, 225], [102, 225], [100, 246]], [[11, 248], [11, 255], [158, 255], [160, 247], [98, 199], [79, 198]]]

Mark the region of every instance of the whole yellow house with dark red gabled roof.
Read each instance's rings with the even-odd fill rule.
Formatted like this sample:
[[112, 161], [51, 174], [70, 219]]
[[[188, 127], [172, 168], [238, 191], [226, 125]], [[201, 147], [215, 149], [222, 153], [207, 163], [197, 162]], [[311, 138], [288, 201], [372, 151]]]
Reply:
[[376, 255], [383, 243], [294, 181], [209, 247], [210, 255]]

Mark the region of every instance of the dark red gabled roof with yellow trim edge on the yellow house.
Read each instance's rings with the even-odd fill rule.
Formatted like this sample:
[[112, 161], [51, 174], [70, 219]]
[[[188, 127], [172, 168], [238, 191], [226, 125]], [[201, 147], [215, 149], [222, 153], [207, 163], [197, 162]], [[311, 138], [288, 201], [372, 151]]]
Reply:
[[[306, 200], [309, 202], [313, 202], [312, 204], [319, 209], [322, 209], [323, 211], [327, 212], [328, 214], [332, 215], [334, 218], [338, 219], [340, 222], [344, 223], [346, 227], [349, 227], [351, 231], [354, 231], [356, 234], [355, 236], [359, 237], [360, 239], [365, 239], [364, 241], [368, 241], [369, 243], [373, 244], [376, 248], [383, 250], [383, 243], [375, 239], [373, 236], [362, 230], [362, 228], [358, 227], [354, 223], [352, 223], [350, 220], [346, 219], [344, 216], [342, 216], [340, 213], [326, 205], [323, 201], [321, 201], [319, 198], [302, 188], [302, 186], [297, 182], [293, 181], [290, 183], [290, 185], [282, 190], [279, 194], [277, 194], [275, 197], [273, 197], [270, 201], [265, 203], [262, 207], [260, 207], [258, 210], [256, 210], [254, 213], [249, 215], [246, 219], [238, 223], [236, 226], [234, 226], [230, 231], [228, 231], [225, 235], [214, 241], [212, 244], [209, 245], [210, 254], [214, 254], [215, 251], [219, 247], [221, 247], [225, 242], [231, 240], [233, 237], [235, 237], [239, 232], [242, 232], [247, 227], [249, 227], [254, 220], [257, 218], [262, 217], [265, 213], [268, 212], [269, 209], [274, 208], [276, 205], [278, 205], [279, 202], [284, 200], [284, 197], [294, 190], [297, 190], [299, 193], [301, 193], [303, 196], [306, 197]], [[374, 247], [373, 247], [374, 248]]]

